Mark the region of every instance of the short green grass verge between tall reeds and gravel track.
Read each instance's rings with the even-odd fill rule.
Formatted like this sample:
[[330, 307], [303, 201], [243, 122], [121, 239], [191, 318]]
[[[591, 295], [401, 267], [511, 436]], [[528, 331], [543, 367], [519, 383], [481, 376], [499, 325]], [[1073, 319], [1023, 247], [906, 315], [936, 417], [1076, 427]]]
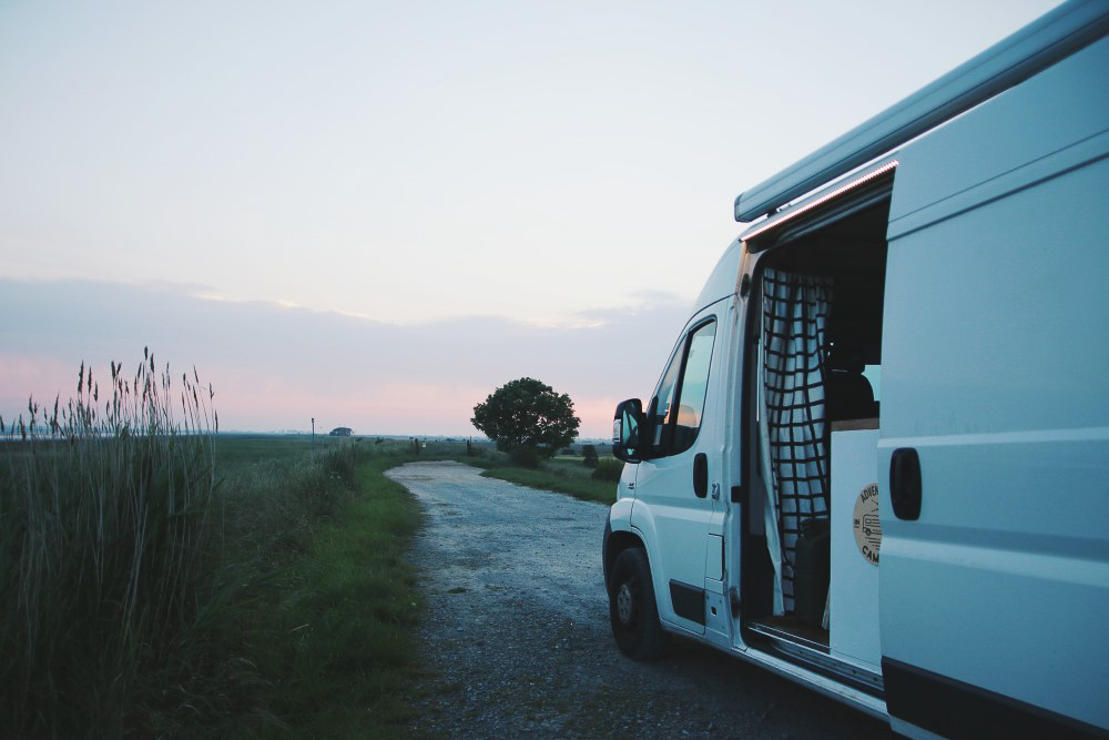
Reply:
[[251, 659], [268, 686], [264, 703], [281, 724], [238, 726], [235, 734], [406, 734], [421, 601], [404, 556], [420, 514], [383, 470], [407, 459], [360, 463], [357, 494], [315, 531], [311, 550], [288, 571], [288, 586], [255, 606]]

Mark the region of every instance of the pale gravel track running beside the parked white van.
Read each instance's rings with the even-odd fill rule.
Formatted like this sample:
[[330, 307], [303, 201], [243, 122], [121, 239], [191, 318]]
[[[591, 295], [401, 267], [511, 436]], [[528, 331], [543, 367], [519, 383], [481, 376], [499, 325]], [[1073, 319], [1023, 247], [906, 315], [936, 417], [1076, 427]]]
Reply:
[[889, 738], [887, 726], [688, 640], [615, 647], [601, 572], [607, 507], [459, 463], [386, 475], [426, 513], [411, 555], [428, 608], [414, 732], [446, 738]]

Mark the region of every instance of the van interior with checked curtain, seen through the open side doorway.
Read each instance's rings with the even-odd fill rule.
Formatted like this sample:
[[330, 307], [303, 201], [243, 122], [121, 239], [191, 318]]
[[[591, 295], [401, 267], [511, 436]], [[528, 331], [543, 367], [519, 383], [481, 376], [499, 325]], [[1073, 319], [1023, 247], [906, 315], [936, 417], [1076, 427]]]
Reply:
[[[745, 495], [737, 525], [743, 529], [740, 612], [744, 642], [874, 693], [882, 690], [881, 656], [876, 655], [877, 550], [867, 562], [868, 556], [852, 537], [852, 525], [858, 529], [859, 523], [851, 517], [857, 514], [853, 508], [862, 490], [877, 481], [888, 211], [888, 195], [872, 197], [862, 207], [841, 206], [840, 213], [825, 211], [794, 225], [791, 232], [772, 233], [763, 245], [757, 237], [749, 244], [752, 252], [760, 246], [763, 251], [753, 273], [747, 312], [747, 336], [752, 338], [744, 367], [743, 423], [749, 442], [741, 466]], [[818, 315], [794, 330], [807, 334], [810, 345], [817, 348], [815, 359], [810, 359], [816, 364], [807, 368], [806, 377], [818, 378], [818, 387], [811, 382], [804, 393], [783, 404], [788, 409], [785, 416], [794, 422], [783, 422], [780, 429], [773, 428], [774, 414], [767, 412], [767, 399], [781, 381], [773, 379], [760, 359], [769, 346], [764, 336], [769, 326], [764, 315], [770, 301], [767, 275], [828, 287], [826, 301], [815, 310]], [[783, 362], [794, 372], [794, 365], [805, 361], [795, 357]], [[796, 408], [801, 403], [807, 408]], [[792, 444], [795, 429], [790, 427], [797, 426], [798, 414], [805, 415], [805, 428], [816, 437], [812, 446], [793, 457], [769, 455], [767, 445], [780, 449]], [[861, 440], [855, 444], [861, 447], [857, 455], [851, 453], [858, 460], [848, 464], [846, 452], [837, 452], [842, 459], [833, 455], [833, 449], [849, 448], [833, 444], [841, 437], [853, 444]], [[766, 469], [767, 460], [772, 470]], [[802, 465], [807, 470], [807, 477], [801, 476], [805, 490], [792, 497], [796, 491], [791, 490], [790, 479]], [[858, 469], [851, 470], [852, 466]], [[846, 483], [840, 481], [837, 473], [847, 476]], [[876, 499], [873, 505], [876, 507]], [[878, 526], [876, 508], [873, 516], [867, 515], [866, 524], [868, 528]], [[833, 525], [840, 525], [835, 533]], [[776, 531], [769, 536], [771, 526], [776, 526]], [[881, 537], [879, 529], [876, 536]], [[780, 559], [780, 574], [775, 572], [775, 558]], [[837, 604], [842, 605], [838, 609]]]

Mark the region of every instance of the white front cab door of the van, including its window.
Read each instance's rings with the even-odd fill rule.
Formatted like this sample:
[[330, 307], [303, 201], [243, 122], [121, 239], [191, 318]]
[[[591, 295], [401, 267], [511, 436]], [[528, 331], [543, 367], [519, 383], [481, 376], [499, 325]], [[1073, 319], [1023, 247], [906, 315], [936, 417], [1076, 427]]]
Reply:
[[[704, 561], [712, 498], [703, 418], [718, 322], [711, 311], [689, 324], [647, 407], [650, 447], [635, 477], [632, 526], [648, 541], [659, 616], [704, 633]], [[710, 422], [711, 423], [711, 422]]]

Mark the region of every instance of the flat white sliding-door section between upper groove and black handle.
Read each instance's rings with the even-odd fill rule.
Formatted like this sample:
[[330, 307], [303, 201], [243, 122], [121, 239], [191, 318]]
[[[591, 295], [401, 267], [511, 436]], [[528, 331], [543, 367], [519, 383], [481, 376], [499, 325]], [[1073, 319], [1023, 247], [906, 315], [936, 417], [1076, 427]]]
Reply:
[[1101, 160], [889, 242], [884, 438], [1107, 425], [1106, 193]]

